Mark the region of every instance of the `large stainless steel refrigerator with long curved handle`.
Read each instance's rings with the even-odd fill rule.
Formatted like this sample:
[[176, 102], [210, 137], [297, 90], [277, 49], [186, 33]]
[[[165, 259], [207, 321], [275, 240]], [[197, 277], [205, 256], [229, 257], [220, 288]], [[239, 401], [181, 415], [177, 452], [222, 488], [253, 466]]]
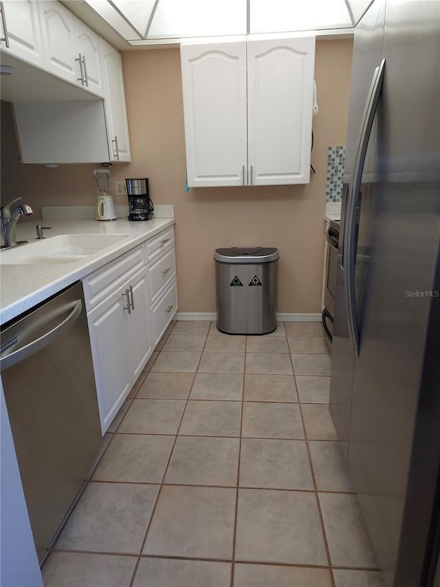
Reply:
[[354, 39], [330, 411], [387, 587], [440, 584], [439, 29], [375, 0]]

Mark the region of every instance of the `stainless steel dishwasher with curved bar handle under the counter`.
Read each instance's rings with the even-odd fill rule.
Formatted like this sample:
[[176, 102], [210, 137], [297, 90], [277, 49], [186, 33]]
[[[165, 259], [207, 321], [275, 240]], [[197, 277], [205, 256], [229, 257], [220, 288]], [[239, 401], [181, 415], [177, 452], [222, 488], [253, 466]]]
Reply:
[[40, 563], [83, 487], [101, 442], [78, 283], [5, 324], [0, 368]]

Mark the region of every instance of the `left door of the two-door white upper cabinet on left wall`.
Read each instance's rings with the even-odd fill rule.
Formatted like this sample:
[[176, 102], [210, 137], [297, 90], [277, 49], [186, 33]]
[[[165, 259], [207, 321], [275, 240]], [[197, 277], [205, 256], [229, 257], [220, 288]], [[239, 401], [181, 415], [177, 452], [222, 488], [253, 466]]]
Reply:
[[78, 57], [75, 51], [74, 16], [56, 1], [39, 1], [45, 67], [58, 77], [78, 84]]

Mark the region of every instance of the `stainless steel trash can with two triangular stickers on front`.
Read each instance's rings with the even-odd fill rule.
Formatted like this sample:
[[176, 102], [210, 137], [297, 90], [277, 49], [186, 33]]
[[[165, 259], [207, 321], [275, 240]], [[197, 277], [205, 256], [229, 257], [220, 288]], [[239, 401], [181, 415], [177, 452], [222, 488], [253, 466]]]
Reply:
[[217, 328], [226, 334], [276, 330], [278, 248], [216, 248]]

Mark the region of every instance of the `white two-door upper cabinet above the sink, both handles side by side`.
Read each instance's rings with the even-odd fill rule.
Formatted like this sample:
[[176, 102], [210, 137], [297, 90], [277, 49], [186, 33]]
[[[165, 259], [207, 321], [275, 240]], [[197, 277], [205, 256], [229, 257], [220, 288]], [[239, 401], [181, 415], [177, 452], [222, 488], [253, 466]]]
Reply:
[[55, 0], [38, 6], [47, 71], [104, 96], [98, 35]]

